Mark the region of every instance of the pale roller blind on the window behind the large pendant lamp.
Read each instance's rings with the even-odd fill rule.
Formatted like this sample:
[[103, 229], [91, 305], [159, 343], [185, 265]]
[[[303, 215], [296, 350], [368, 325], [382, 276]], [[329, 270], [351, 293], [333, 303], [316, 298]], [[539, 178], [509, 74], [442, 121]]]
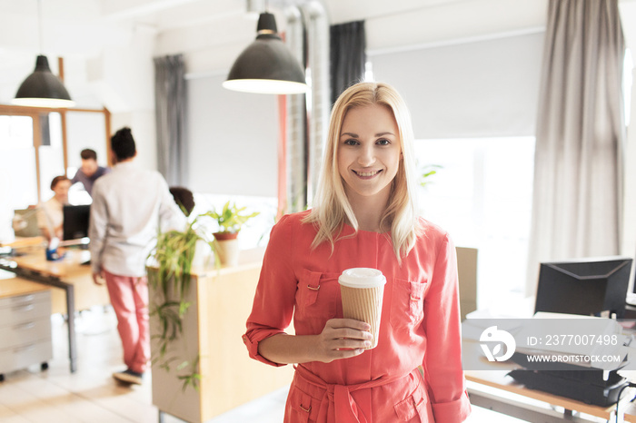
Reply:
[[276, 197], [277, 97], [236, 93], [225, 74], [188, 80], [189, 188]]

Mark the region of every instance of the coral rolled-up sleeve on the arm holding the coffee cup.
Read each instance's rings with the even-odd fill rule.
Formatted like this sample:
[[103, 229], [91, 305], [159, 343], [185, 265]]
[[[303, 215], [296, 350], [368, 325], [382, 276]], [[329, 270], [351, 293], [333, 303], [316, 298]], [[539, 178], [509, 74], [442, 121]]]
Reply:
[[252, 313], [247, 320], [243, 343], [250, 357], [272, 366], [283, 366], [265, 359], [258, 352], [258, 343], [279, 333], [285, 333], [293, 316], [296, 276], [293, 271], [293, 225], [283, 216], [272, 229], [263, 258], [261, 276], [254, 294]]

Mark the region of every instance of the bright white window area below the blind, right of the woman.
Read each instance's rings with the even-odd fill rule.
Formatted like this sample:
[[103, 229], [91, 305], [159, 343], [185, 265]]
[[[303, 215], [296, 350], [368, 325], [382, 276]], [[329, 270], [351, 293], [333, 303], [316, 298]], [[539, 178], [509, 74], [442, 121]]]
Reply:
[[[479, 308], [524, 293], [534, 137], [417, 140], [422, 215], [478, 249]], [[432, 168], [438, 165], [439, 168]]]

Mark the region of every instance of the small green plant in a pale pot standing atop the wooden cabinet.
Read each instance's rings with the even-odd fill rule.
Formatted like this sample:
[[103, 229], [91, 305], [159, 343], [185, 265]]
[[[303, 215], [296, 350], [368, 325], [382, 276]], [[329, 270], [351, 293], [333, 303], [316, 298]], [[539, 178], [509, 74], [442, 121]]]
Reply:
[[237, 207], [234, 202], [226, 202], [221, 212], [212, 210], [204, 215], [216, 221], [218, 231], [214, 232], [214, 251], [221, 264], [234, 266], [238, 262], [238, 233], [243, 224], [259, 212], [246, 213], [246, 207]]

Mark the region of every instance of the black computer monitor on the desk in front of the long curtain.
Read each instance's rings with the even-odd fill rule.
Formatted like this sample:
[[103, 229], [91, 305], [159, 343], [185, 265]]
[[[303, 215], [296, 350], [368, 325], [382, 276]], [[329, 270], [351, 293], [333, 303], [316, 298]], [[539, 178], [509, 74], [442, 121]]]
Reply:
[[613, 256], [541, 263], [534, 311], [621, 319], [630, 284], [632, 259]]

